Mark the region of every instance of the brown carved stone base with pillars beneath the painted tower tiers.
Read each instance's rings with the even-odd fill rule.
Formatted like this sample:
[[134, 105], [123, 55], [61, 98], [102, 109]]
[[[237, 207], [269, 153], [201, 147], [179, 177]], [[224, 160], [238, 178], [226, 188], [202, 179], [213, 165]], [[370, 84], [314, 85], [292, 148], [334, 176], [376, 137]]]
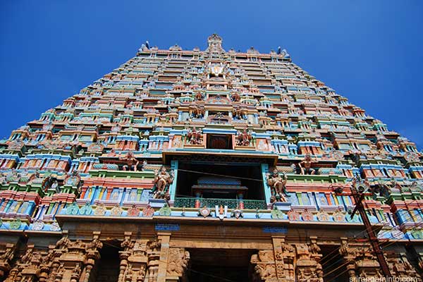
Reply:
[[[106, 219], [107, 224], [61, 216], [63, 231], [0, 235], [4, 281], [346, 281], [380, 278], [362, 228], [327, 228], [244, 219], [175, 223], [170, 218]], [[265, 225], [264, 225], [265, 224]], [[278, 223], [280, 227], [281, 224]], [[166, 230], [167, 229], [167, 230]], [[349, 234], [350, 237], [345, 237]], [[54, 244], [49, 245], [55, 240]], [[6, 242], [8, 241], [8, 243]], [[403, 243], [387, 248], [391, 274], [419, 276], [419, 252]]]

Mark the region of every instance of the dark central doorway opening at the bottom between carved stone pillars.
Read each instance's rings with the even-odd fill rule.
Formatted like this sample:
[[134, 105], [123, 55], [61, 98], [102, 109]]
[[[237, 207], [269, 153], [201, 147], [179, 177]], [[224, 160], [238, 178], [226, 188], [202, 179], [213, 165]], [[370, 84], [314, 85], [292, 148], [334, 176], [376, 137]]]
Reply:
[[250, 259], [257, 250], [188, 249], [190, 282], [251, 281]]

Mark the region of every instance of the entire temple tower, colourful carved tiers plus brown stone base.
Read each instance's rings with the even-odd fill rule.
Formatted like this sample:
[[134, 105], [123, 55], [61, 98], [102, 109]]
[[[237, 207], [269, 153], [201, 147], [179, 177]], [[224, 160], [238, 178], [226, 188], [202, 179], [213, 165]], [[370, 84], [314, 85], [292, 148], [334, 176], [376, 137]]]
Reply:
[[207, 42], [146, 42], [0, 140], [0, 280], [381, 278], [367, 215], [391, 275], [422, 281], [415, 143], [284, 49]]

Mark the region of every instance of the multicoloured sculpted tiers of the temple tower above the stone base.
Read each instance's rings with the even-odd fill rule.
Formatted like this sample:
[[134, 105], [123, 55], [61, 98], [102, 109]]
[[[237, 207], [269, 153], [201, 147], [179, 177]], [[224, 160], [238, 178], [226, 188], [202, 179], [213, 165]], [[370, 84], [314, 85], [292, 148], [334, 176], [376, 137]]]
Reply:
[[[71, 216], [218, 221], [220, 206], [225, 219], [357, 226], [350, 187], [362, 183], [379, 238], [420, 240], [422, 157], [286, 50], [225, 51], [219, 35], [204, 51], [143, 44], [0, 141], [0, 229], [61, 233]], [[228, 168], [209, 176], [187, 161]], [[238, 164], [260, 172], [225, 186]], [[203, 178], [189, 190], [181, 173]], [[204, 194], [222, 187], [233, 198]]]

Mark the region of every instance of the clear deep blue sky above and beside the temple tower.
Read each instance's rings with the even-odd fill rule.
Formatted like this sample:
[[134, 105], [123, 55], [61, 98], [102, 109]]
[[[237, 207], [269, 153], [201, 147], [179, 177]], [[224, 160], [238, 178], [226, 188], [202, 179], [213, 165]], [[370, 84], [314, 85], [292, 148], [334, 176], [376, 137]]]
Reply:
[[0, 1], [0, 137], [135, 55], [206, 46], [269, 52], [423, 146], [423, 1]]

